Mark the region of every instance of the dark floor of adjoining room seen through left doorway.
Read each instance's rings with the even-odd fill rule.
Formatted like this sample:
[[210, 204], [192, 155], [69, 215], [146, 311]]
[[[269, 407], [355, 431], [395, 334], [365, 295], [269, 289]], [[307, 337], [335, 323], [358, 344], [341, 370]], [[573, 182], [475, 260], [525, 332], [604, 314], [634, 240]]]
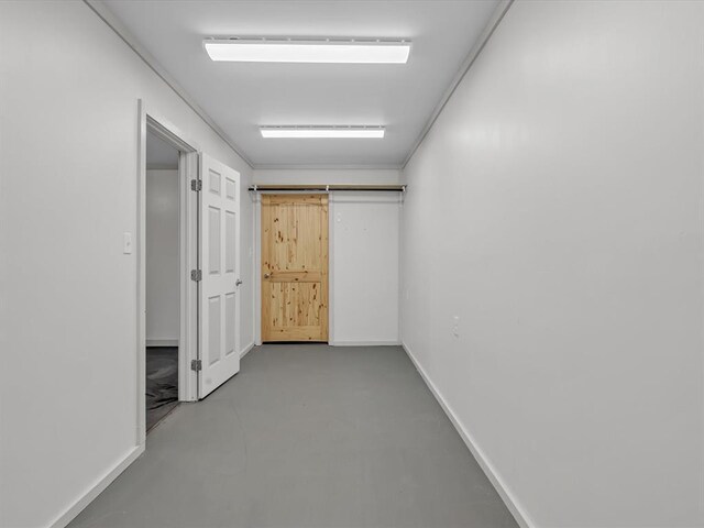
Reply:
[[146, 430], [178, 405], [178, 348], [146, 349]]

